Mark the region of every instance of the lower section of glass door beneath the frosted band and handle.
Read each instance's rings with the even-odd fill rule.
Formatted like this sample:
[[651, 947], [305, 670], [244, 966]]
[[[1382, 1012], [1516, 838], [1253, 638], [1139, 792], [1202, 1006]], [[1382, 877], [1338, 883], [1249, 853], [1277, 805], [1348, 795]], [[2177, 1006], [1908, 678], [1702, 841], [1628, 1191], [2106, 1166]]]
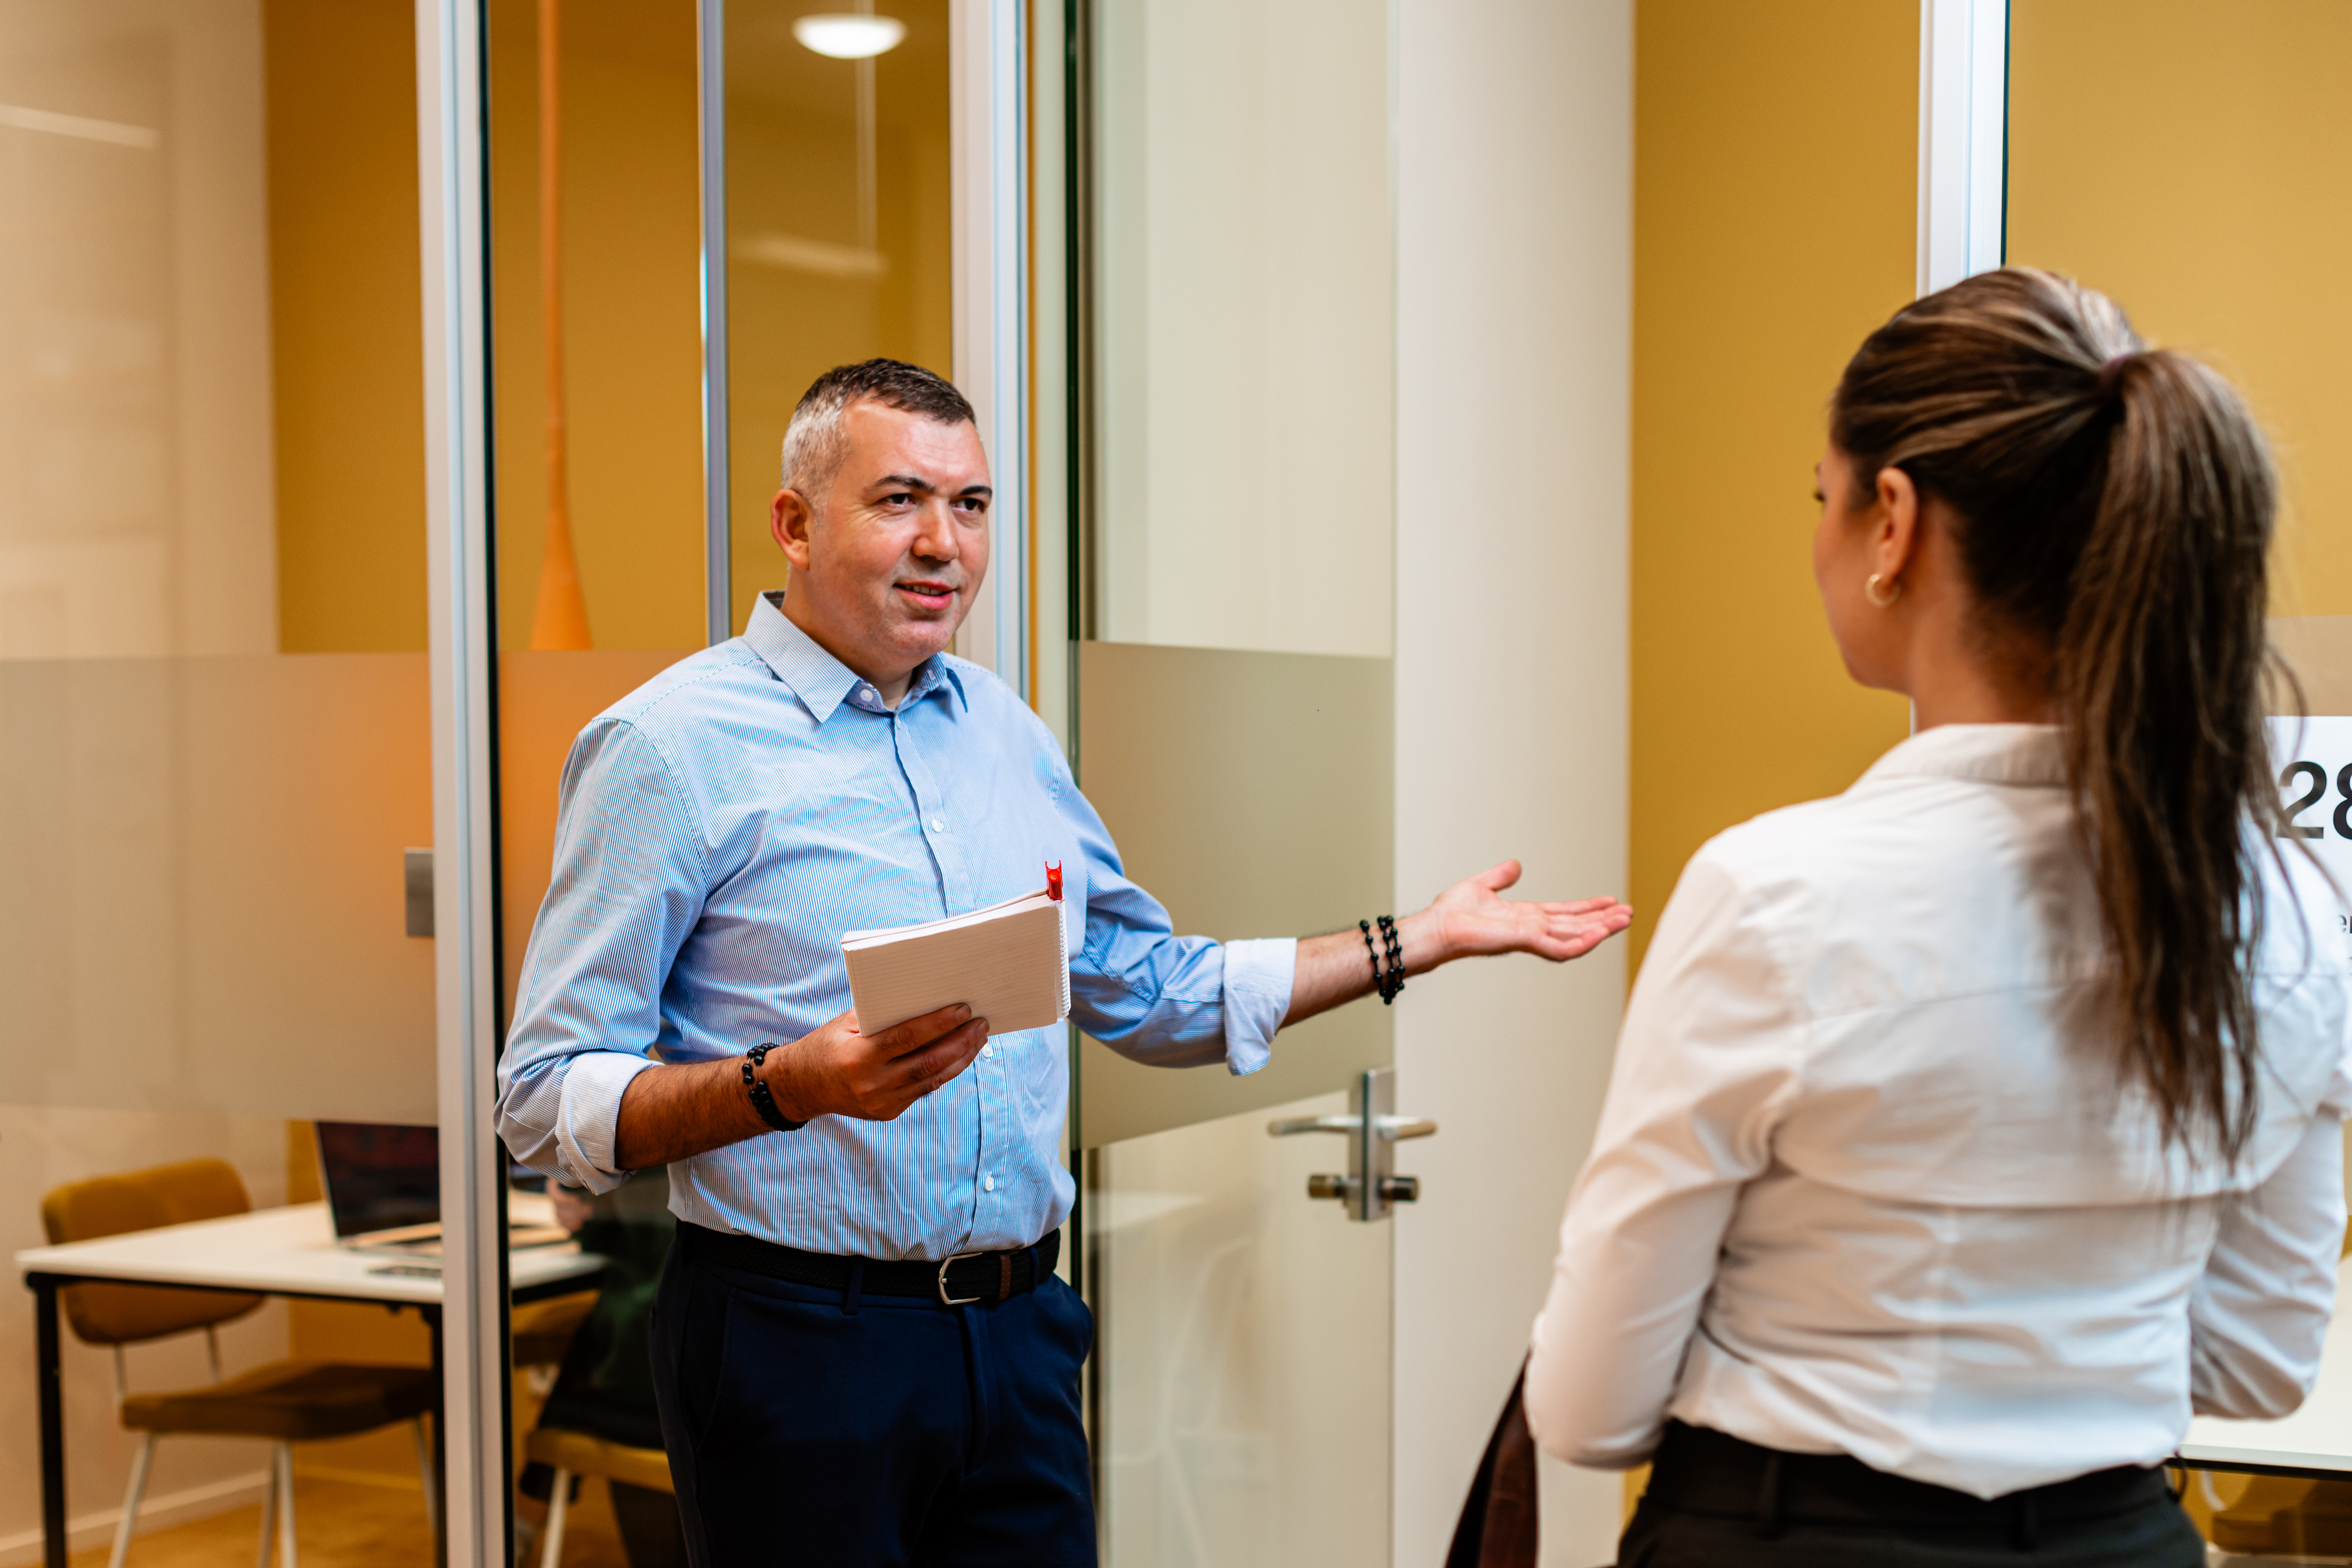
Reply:
[[1388, 1561], [1390, 1225], [1305, 1194], [1315, 1095], [1115, 1143], [1089, 1194], [1110, 1568]]

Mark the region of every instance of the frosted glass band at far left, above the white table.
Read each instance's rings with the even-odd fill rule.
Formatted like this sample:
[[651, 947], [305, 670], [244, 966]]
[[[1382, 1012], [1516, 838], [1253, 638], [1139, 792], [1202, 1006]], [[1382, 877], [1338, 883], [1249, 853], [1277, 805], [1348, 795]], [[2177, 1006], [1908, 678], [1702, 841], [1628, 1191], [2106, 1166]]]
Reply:
[[423, 654], [0, 661], [19, 1105], [433, 1121]]

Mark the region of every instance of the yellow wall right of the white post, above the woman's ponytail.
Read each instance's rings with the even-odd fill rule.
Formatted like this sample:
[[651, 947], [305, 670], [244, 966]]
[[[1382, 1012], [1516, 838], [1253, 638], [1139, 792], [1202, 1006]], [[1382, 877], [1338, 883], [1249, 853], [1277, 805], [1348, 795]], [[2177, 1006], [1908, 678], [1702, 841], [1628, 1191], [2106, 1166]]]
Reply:
[[2352, 614], [2352, 7], [2013, 0], [2009, 259], [2201, 355], [2279, 447], [2277, 609]]

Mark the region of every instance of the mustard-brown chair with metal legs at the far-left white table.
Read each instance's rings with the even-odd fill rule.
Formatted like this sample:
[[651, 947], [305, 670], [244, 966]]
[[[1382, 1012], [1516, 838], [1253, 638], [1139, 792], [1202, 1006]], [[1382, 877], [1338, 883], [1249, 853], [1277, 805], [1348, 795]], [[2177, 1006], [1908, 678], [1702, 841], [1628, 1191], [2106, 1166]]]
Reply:
[[[52, 1190], [40, 1201], [40, 1222], [52, 1244], [118, 1237], [132, 1229], [216, 1220], [247, 1213], [252, 1201], [233, 1166], [188, 1159], [174, 1166], [101, 1175]], [[66, 1286], [59, 1298], [66, 1321], [87, 1345], [115, 1352], [115, 1408], [122, 1425], [143, 1434], [132, 1462], [132, 1486], [122, 1497], [122, 1523], [108, 1568], [122, 1568], [139, 1526], [139, 1497], [155, 1460], [155, 1439], [259, 1436], [270, 1441], [270, 1488], [261, 1505], [261, 1568], [270, 1561], [270, 1528], [278, 1561], [294, 1559], [294, 1443], [358, 1436], [376, 1427], [409, 1422], [416, 1432], [416, 1467], [426, 1483], [426, 1521], [437, 1533], [437, 1490], [426, 1413], [433, 1410], [433, 1373], [421, 1366], [358, 1366], [343, 1361], [270, 1361], [235, 1378], [221, 1378], [221, 1324], [261, 1305], [259, 1295], [221, 1291], [172, 1291], [165, 1286]], [[132, 1394], [122, 1375], [122, 1347], [202, 1328], [212, 1347], [212, 1387], [176, 1394]]]

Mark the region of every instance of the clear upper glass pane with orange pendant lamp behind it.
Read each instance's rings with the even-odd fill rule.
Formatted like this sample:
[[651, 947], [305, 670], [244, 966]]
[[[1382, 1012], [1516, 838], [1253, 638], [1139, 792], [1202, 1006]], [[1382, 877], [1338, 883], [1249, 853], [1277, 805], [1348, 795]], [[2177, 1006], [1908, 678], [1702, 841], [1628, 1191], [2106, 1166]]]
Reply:
[[489, 5], [506, 649], [703, 642], [694, 92], [691, 0]]

